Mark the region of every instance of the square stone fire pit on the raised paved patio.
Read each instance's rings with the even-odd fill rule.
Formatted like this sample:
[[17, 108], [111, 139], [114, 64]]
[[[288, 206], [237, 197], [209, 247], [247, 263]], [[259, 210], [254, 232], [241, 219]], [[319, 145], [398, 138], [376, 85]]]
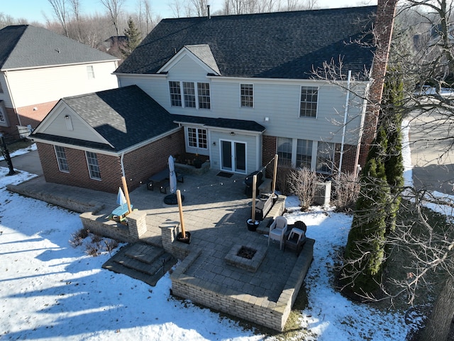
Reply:
[[255, 272], [262, 264], [266, 254], [267, 248], [261, 245], [235, 244], [224, 259], [226, 259], [227, 264]]

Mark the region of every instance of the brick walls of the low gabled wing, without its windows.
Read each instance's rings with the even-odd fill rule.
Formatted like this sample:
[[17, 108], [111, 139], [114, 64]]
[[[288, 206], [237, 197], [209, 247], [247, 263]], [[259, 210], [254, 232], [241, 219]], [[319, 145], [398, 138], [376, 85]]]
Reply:
[[[101, 180], [90, 178], [85, 152], [74, 148], [65, 148], [70, 173], [61, 172], [58, 168], [54, 147], [38, 143], [38, 153], [45, 180], [49, 183], [61, 183], [92, 190], [116, 193], [121, 182], [121, 158], [97, 153]], [[167, 167], [169, 156], [182, 153], [184, 138], [182, 130], [166, 136], [132, 151], [124, 156], [128, 190], [134, 190], [150, 178], [151, 175]]]

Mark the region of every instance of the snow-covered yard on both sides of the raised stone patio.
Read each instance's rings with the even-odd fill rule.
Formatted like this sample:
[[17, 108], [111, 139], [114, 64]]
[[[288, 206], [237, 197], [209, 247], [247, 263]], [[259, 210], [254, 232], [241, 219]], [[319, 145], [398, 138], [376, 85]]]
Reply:
[[[33, 175], [7, 173], [0, 168], [0, 340], [266, 338], [172, 298], [168, 274], [151, 287], [101, 269], [109, 253], [92, 257], [70, 245], [71, 234], [82, 227], [79, 216], [9, 193], [6, 184]], [[332, 288], [333, 255], [345, 245], [351, 217], [321, 207], [301, 212], [298, 204], [295, 197], [287, 200], [286, 207], [293, 211], [287, 215], [289, 222], [303, 220], [308, 237], [316, 239], [301, 330], [309, 330], [311, 340], [404, 340], [408, 327], [403, 313], [352, 303]]]

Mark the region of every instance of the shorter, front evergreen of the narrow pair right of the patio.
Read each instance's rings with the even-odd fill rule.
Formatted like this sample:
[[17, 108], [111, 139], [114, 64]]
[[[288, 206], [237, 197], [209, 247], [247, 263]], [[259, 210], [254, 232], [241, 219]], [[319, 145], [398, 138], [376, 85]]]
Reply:
[[387, 134], [379, 126], [361, 175], [360, 197], [345, 247], [341, 283], [360, 296], [374, 293], [382, 283], [385, 235], [391, 190], [384, 155]]

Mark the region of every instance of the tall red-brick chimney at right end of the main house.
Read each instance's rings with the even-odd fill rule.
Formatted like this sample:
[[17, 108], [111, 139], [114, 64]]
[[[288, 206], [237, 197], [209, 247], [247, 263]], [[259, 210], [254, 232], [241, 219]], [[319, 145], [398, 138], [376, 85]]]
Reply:
[[377, 16], [373, 26], [375, 55], [372, 63], [372, 85], [369, 89], [370, 104], [367, 104], [364, 120], [364, 129], [360, 144], [359, 160], [364, 166], [369, 146], [377, 133], [378, 115], [380, 114], [380, 103], [382, 102], [384, 76], [391, 47], [392, 26], [396, 15], [397, 0], [378, 0]]

